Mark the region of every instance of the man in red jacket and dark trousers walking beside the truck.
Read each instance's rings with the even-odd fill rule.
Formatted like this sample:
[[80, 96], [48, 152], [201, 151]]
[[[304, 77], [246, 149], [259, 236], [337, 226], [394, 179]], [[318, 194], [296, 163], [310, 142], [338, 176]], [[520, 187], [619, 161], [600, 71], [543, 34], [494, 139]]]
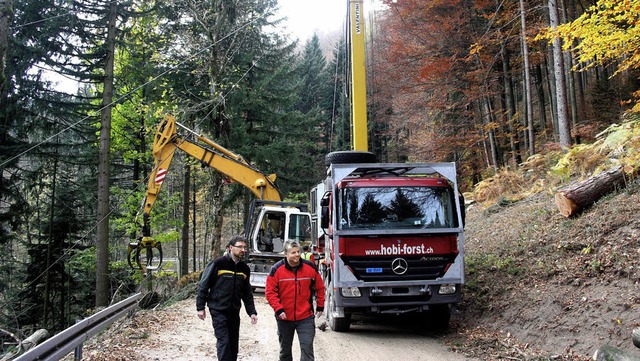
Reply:
[[324, 283], [312, 262], [300, 258], [300, 244], [287, 241], [283, 260], [271, 268], [267, 276], [265, 296], [276, 315], [280, 361], [292, 361], [291, 345], [294, 333], [300, 341], [300, 360], [313, 360], [313, 339], [316, 334], [313, 299], [317, 297], [315, 316], [324, 310]]

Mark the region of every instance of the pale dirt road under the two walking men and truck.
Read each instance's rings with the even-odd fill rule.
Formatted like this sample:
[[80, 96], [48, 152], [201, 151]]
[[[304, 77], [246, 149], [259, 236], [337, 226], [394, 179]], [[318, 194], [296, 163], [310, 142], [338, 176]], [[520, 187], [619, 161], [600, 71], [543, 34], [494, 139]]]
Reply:
[[[255, 294], [258, 323], [252, 325], [241, 311], [239, 360], [278, 359], [278, 336], [273, 311], [264, 294]], [[180, 301], [161, 311], [138, 312], [133, 320], [114, 325], [84, 347], [85, 360], [215, 360], [215, 337], [211, 319], [196, 316], [195, 301]], [[317, 320], [317, 324], [324, 317]], [[437, 335], [409, 326], [412, 322], [398, 317], [354, 317], [350, 332], [317, 330], [315, 355], [319, 361], [354, 360], [471, 360], [440, 344]], [[294, 360], [300, 350], [294, 341]]]

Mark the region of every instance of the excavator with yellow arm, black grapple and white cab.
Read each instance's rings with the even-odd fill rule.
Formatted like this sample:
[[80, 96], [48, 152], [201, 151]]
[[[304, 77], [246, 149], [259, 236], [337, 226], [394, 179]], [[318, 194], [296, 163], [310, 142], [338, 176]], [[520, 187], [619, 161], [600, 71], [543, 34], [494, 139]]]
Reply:
[[[180, 136], [178, 126], [194, 139]], [[154, 137], [154, 167], [143, 204], [142, 237], [128, 247], [128, 262], [132, 268], [154, 270], [162, 264], [162, 245], [151, 237], [150, 215], [177, 150], [222, 173], [232, 182], [241, 184], [255, 196], [244, 229], [249, 248], [247, 264], [252, 271], [252, 287], [265, 286], [271, 265], [283, 257], [284, 242], [295, 240], [301, 244], [311, 244], [311, 215], [307, 212], [307, 205], [283, 202], [275, 184], [275, 174], [263, 173], [242, 156], [178, 123], [172, 115], [167, 115], [158, 125]]]

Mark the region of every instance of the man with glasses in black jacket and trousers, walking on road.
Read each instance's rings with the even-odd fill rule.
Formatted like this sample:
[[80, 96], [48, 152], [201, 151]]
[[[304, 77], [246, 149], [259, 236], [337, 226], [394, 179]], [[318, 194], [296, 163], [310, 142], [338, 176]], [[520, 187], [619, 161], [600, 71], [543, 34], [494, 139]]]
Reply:
[[251, 323], [258, 322], [258, 314], [253, 303], [253, 292], [249, 283], [249, 266], [242, 261], [246, 249], [246, 239], [234, 236], [227, 244], [222, 257], [209, 262], [200, 282], [196, 296], [196, 310], [201, 320], [205, 319], [205, 303], [209, 306], [211, 322], [216, 335], [216, 349], [219, 361], [238, 359], [240, 339], [241, 300], [251, 317]]

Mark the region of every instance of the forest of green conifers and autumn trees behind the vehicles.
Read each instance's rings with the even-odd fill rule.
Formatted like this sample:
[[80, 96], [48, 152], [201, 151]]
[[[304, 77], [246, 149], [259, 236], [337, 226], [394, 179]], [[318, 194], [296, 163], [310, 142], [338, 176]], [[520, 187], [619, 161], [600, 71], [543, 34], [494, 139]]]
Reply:
[[[347, 1], [345, 0], [345, 6]], [[456, 162], [463, 191], [639, 111], [640, 0], [384, 0], [366, 14], [370, 150]], [[348, 39], [277, 0], [0, 0], [0, 337], [55, 332], [141, 283], [127, 265], [167, 114], [307, 201], [350, 149]], [[635, 119], [635, 118], [634, 118]], [[176, 155], [153, 234], [201, 269], [250, 193]], [[4, 351], [4, 342], [3, 342]]]

